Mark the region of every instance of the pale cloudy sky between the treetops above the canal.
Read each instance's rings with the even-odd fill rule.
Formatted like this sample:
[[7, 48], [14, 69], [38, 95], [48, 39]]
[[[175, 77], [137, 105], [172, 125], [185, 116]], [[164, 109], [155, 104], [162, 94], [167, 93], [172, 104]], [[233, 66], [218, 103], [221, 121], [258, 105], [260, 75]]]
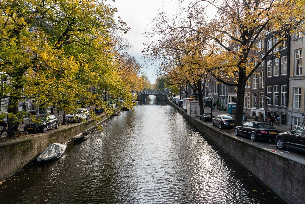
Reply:
[[130, 55], [136, 57], [143, 66], [143, 72], [148, 76], [150, 83], [156, 81], [156, 67], [146, 67], [142, 58], [143, 43], [148, 42], [144, 33], [149, 30], [152, 18], [156, 17], [157, 8], [163, 8], [166, 13], [175, 13], [179, 6], [175, 0], [115, 0], [109, 1], [110, 5], [117, 8], [115, 17], [120, 16], [122, 20], [131, 27], [130, 31], [124, 35], [131, 44]]

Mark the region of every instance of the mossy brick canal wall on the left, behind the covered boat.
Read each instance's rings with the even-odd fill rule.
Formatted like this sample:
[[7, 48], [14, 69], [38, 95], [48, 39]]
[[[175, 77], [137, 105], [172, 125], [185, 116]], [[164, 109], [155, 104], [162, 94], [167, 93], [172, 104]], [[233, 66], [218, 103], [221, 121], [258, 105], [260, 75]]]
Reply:
[[44, 134], [35, 134], [0, 144], [0, 180], [7, 178], [30, 161], [35, 160], [49, 144], [69, 141], [84, 130], [94, 128], [95, 123], [100, 124], [108, 118], [107, 115], [103, 115], [101, 116], [102, 121], [99, 122], [89, 120], [60, 131], [47, 131]]

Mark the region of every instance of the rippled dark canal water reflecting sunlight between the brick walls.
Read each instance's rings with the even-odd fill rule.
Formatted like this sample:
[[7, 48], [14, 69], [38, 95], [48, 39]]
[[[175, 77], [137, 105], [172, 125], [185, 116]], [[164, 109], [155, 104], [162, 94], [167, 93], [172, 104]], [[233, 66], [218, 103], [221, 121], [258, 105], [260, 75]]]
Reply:
[[166, 102], [122, 111], [48, 163], [0, 184], [0, 203], [279, 203]]

